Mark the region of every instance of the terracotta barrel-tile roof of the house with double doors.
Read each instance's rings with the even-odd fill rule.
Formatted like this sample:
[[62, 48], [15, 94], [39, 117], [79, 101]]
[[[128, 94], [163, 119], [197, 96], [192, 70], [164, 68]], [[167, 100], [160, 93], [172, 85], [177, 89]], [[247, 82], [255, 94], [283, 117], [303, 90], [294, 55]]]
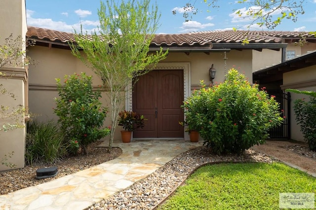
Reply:
[[[249, 43], [284, 43], [284, 39], [300, 38], [306, 35], [315, 38], [307, 32], [268, 32], [268, 31], [205, 31], [186, 34], [155, 35], [151, 47], [209, 47], [212, 44], [242, 44], [244, 39]], [[71, 33], [60, 32], [37, 27], [28, 27], [28, 38], [67, 43], [75, 41]]]

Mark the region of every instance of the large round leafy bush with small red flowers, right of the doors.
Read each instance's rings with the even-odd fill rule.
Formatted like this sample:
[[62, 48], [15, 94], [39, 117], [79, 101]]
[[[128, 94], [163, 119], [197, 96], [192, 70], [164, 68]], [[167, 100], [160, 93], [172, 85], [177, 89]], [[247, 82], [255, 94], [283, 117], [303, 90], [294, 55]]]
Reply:
[[270, 128], [283, 118], [274, 96], [250, 85], [243, 74], [231, 69], [225, 82], [194, 90], [184, 102], [185, 121], [199, 131], [213, 152], [241, 152], [268, 138]]

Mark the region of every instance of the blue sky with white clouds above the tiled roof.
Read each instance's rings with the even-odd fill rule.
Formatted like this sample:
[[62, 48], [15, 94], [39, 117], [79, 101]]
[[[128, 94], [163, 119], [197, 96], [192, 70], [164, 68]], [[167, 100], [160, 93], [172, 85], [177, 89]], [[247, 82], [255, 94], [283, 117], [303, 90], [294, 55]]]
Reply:
[[[185, 22], [181, 7], [194, 3], [199, 9], [193, 20]], [[157, 34], [180, 34], [195, 31], [228, 30], [237, 28], [247, 30], [250, 22], [238, 17], [233, 10], [247, 10], [248, 5], [238, 4], [236, 0], [218, 0], [219, 8], [207, 7], [203, 0], [157, 0], [161, 13]], [[63, 32], [74, 32], [80, 29], [91, 31], [97, 28], [97, 9], [99, 0], [26, 0], [27, 22], [29, 26], [52, 29]], [[178, 14], [173, 15], [172, 10]], [[210, 11], [207, 11], [210, 10]], [[304, 0], [305, 14], [297, 22], [285, 20], [276, 27], [276, 31], [316, 31], [316, 0]], [[261, 30], [255, 26], [251, 30]], [[265, 28], [263, 30], [266, 30]]]

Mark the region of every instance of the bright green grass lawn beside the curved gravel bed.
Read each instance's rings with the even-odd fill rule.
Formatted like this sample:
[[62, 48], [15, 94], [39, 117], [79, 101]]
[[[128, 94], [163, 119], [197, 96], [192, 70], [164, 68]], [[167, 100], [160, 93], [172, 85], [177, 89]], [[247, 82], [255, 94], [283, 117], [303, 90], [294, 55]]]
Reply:
[[316, 193], [316, 178], [282, 163], [209, 165], [159, 210], [279, 209], [279, 193]]

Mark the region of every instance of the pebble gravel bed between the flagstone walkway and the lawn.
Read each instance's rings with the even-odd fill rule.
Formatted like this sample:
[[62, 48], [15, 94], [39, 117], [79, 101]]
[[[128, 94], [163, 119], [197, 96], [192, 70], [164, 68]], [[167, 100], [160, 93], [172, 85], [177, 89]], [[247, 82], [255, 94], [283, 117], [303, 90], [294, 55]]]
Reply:
[[219, 162], [266, 162], [275, 160], [248, 149], [242, 155], [210, 154], [209, 148], [197, 147], [180, 154], [153, 174], [136, 182], [88, 210], [150, 210], [174, 191], [197, 167]]

